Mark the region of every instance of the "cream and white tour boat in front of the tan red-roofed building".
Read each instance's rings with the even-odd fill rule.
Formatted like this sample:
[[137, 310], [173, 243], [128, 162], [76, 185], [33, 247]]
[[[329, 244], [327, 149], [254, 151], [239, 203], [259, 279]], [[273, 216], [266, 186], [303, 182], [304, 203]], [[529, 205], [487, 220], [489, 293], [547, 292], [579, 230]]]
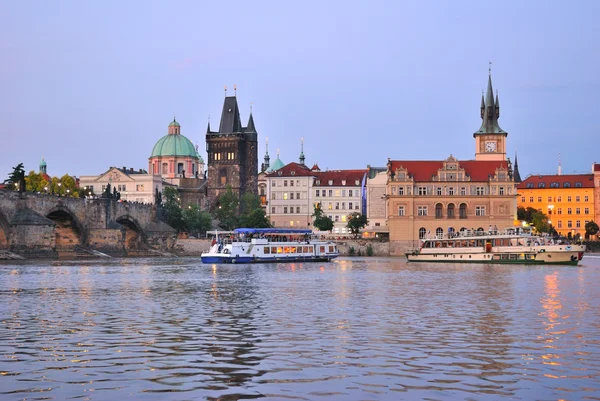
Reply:
[[406, 253], [410, 262], [552, 263], [577, 265], [585, 245], [562, 243], [532, 235], [521, 228], [465, 231], [421, 240], [419, 249]]

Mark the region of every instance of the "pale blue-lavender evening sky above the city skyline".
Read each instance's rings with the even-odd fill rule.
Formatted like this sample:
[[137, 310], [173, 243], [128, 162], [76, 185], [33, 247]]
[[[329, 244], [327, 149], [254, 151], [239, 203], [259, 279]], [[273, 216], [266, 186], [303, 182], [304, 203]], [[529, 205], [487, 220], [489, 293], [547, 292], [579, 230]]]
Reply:
[[[598, 1], [0, 2], [0, 182], [148, 168], [176, 116], [206, 159], [237, 86], [271, 162], [475, 157], [489, 62], [523, 178], [600, 162]], [[210, 117], [209, 117], [210, 116]], [[6, 176], [6, 177], [3, 177]]]

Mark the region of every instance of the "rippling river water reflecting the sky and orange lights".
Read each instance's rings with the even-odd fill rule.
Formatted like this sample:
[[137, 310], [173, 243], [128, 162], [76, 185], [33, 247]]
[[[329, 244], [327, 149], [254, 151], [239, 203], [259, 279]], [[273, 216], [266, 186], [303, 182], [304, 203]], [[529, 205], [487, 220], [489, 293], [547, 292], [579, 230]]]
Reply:
[[583, 266], [0, 265], [1, 400], [598, 400]]

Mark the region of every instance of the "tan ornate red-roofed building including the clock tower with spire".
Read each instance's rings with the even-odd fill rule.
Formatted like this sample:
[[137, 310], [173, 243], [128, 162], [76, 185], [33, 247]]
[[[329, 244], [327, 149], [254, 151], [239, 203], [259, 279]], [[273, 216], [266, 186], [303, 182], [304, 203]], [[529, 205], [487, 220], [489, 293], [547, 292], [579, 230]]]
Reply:
[[500, 128], [500, 103], [491, 73], [482, 96], [482, 124], [473, 137], [475, 160], [388, 160], [386, 206], [392, 254], [420, 239], [465, 230], [502, 230], [514, 224], [516, 188], [506, 158], [508, 133]]

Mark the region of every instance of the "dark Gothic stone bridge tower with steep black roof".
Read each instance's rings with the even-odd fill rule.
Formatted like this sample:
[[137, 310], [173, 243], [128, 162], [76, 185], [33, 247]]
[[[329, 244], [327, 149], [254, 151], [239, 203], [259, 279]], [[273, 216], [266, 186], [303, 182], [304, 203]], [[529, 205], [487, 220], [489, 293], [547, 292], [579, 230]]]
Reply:
[[[227, 89], [225, 89], [227, 91]], [[227, 96], [219, 130], [206, 130], [208, 153], [208, 199], [211, 206], [231, 186], [238, 196], [258, 193], [258, 133], [250, 111], [248, 125], [242, 126], [236, 96]]]

